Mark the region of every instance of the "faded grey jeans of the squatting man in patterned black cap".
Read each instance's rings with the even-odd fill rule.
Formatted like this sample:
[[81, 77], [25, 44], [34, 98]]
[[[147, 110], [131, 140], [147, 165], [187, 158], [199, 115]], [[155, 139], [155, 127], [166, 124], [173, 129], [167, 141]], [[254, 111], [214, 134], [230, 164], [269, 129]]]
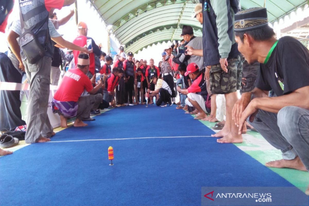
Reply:
[[283, 159], [299, 156], [309, 170], [309, 110], [294, 106], [284, 107], [278, 114], [260, 110], [250, 124], [281, 150]]

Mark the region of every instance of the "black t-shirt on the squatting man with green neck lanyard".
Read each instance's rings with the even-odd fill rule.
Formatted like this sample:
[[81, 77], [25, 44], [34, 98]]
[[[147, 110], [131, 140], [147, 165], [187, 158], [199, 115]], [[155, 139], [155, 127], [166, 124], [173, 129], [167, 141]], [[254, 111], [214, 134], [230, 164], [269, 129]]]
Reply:
[[[284, 90], [275, 73], [283, 80]], [[282, 37], [267, 64], [261, 64], [256, 87], [281, 96], [304, 86], [309, 86], [309, 51], [293, 37]]]

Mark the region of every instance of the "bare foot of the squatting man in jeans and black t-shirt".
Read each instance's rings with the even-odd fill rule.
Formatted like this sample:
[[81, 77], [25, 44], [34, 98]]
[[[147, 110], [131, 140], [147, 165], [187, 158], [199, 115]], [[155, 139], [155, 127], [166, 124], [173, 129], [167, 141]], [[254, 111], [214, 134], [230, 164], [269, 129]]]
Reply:
[[303, 162], [300, 160], [299, 157], [296, 157], [292, 160], [276, 160], [271, 162], [266, 162], [265, 164], [268, 167], [276, 167], [276, 168], [292, 168], [295, 170], [307, 171], [306, 167], [304, 166]]

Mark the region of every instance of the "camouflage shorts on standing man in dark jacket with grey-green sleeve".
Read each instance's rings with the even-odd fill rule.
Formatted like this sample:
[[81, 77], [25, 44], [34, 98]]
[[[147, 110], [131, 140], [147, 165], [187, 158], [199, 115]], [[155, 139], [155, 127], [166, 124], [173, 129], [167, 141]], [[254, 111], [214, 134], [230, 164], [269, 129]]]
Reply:
[[227, 72], [221, 65], [212, 65], [210, 69], [210, 90], [212, 94], [227, 94], [235, 92], [241, 86], [242, 66], [240, 56], [227, 61]]

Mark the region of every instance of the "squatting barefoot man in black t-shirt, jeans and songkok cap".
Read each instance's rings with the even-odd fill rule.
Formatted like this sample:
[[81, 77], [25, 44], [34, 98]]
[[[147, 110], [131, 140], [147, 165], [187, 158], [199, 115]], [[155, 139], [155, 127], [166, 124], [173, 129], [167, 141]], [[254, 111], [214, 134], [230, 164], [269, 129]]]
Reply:
[[[256, 88], [243, 93], [232, 111], [239, 134], [248, 118], [282, 152], [281, 160], [266, 166], [309, 170], [308, 49], [290, 36], [277, 40], [268, 26], [266, 8], [237, 13], [234, 29], [239, 52], [249, 64], [261, 63]], [[270, 90], [274, 97], [268, 96]]]

